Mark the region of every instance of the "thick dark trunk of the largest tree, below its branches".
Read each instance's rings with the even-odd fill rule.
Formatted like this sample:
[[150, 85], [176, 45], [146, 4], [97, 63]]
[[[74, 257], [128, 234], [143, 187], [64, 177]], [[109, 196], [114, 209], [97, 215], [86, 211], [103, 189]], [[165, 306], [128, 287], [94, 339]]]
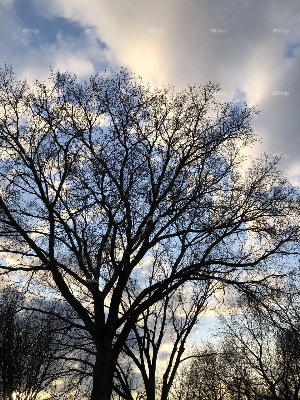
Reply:
[[112, 356], [111, 343], [107, 343], [107, 346], [102, 344], [96, 355], [91, 400], [111, 399], [115, 368], [116, 360]]

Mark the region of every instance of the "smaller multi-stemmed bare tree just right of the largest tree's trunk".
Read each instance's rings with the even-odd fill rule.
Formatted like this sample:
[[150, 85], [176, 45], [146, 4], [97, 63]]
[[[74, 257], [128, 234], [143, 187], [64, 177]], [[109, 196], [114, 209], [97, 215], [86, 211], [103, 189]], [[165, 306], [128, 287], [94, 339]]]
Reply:
[[[147, 399], [168, 398], [176, 371], [185, 359], [186, 341], [201, 319], [212, 292], [213, 285], [209, 281], [202, 286], [190, 286], [188, 291], [180, 287], [142, 312], [132, 328], [123, 352], [136, 365]], [[128, 292], [129, 302], [137, 296]], [[119, 370], [122, 371], [122, 364], [117, 366], [116, 371]], [[131, 399], [125, 374], [119, 372], [118, 376], [123, 382], [124, 393], [127, 392], [128, 399]]]

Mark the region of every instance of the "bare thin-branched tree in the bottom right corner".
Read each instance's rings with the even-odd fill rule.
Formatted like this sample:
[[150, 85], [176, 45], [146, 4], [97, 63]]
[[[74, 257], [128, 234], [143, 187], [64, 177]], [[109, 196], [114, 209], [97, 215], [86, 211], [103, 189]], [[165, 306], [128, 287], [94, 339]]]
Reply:
[[[222, 317], [223, 346], [234, 354], [222, 357], [220, 362], [223, 380], [232, 392], [248, 399], [299, 398], [300, 320], [296, 296], [293, 308], [290, 301], [284, 301], [286, 312], [281, 310], [271, 319], [246, 302], [239, 304], [230, 317]], [[287, 316], [291, 324], [286, 322]]]

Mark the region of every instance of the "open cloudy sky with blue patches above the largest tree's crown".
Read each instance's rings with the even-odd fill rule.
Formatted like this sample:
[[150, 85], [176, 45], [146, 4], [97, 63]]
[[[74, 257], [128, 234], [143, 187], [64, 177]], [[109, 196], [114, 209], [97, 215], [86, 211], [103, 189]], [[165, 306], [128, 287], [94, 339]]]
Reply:
[[209, 80], [263, 110], [261, 142], [300, 183], [299, 0], [0, 0], [0, 64], [20, 78], [80, 78], [124, 66], [152, 86]]

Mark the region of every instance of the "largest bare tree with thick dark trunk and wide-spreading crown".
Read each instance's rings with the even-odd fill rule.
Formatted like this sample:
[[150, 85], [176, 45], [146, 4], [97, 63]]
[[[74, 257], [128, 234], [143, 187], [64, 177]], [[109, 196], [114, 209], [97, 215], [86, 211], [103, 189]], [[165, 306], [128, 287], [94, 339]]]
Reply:
[[[170, 292], [224, 278], [262, 299], [292, 272], [284, 260], [299, 253], [299, 195], [270, 155], [243, 173], [258, 112], [220, 104], [218, 90], [150, 90], [124, 70], [32, 88], [1, 72], [3, 273], [48, 285], [74, 310], [70, 326], [95, 349], [92, 400], [110, 399], [130, 331]], [[153, 249], [166, 278], [149, 285]]]

